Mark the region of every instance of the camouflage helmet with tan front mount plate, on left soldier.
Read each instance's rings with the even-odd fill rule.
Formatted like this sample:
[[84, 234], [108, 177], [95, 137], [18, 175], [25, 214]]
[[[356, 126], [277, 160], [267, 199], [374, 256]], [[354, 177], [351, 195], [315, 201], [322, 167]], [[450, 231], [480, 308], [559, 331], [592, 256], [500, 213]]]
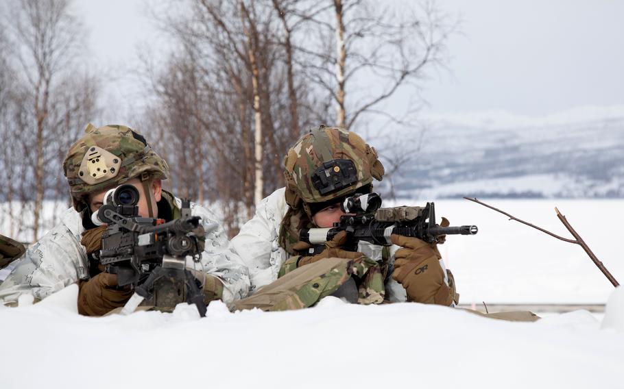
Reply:
[[167, 179], [167, 162], [134, 129], [125, 125], [96, 128], [89, 123], [84, 132], [63, 161], [73, 206], [78, 212], [86, 208], [90, 193], [114, 188], [132, 178]]

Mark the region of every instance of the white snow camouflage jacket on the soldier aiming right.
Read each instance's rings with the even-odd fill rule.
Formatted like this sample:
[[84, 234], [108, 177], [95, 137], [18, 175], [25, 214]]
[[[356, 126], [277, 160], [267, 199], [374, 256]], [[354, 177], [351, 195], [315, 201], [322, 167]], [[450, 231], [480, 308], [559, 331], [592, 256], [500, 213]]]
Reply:
[[[280, 267], [288, 259], [289, 255], [280, 247], [279, 234], [280, 223], [288, 211], [285, 198], [285, 188], [281, 188], [269, 194], [256, 207], [254, 217], [245, 223], [237, 236], [232, 238], [230, 247], [238, 253], [249, 269], [251, 281], [250, 294], [258, 288], [271, 284], [277, 279]], [[390, 249], [394, 263], [394, 252], [398, 246]], [[440, 266], [444, 269], [444, 262], [440, 260]], [[446, 271], [444, 271], [446, 274]], [[448, 284], [448, 281], [446, 281]], [[385, 284], [386, 299], [390, 301], [406, 301], [405, 288], [389, 277]]]

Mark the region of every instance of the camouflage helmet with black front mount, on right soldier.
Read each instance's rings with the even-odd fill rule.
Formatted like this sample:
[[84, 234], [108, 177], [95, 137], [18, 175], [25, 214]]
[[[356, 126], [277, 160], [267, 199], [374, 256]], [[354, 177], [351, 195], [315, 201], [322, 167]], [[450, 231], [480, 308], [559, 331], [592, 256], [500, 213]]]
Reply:
[[292, 208], [324, 203], [383, 177], [373, 147], [346, 129], [321, 125], [302, 136], [285, 159], [286, 201]]

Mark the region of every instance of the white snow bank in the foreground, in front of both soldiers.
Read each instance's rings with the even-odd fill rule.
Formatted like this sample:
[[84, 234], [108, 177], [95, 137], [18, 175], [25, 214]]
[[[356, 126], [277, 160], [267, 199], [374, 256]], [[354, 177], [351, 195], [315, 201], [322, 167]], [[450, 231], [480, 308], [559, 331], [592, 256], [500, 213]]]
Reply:
[[10, 366], [0, 388], [622, 384], [624, 334], [601, 330], [586, 312], [509, 323], [434, 305], [362, 306], [331, 298], [290, 312], [230, 313], [215, 302], [206, 318], [184, 304], [173, 314], [102, 318], [68, 307], [58, 299], [0, 310], [0, 362]]

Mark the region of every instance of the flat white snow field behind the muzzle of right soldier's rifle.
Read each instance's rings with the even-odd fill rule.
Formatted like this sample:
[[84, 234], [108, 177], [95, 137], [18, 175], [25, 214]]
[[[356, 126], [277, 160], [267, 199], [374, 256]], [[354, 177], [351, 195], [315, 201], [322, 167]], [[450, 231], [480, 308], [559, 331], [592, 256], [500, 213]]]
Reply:
[[[624, 251], [619, 224], [624, 220], [622, 200], [500, 200], [484, 199], [516, 218], [573, 238], [555, 214], [566, 216], [621, 283]], [[424, 205], [418, 201], [385, 202]], [[557, 240], [536, 229], [468, 200], [435, 201], [440, 221], [451, 225], [477, 225], [475, 236], [448, 236], [439, 246], [453, 271], [460, 303], [605, 304], [613, 286], [577, 244]]]

